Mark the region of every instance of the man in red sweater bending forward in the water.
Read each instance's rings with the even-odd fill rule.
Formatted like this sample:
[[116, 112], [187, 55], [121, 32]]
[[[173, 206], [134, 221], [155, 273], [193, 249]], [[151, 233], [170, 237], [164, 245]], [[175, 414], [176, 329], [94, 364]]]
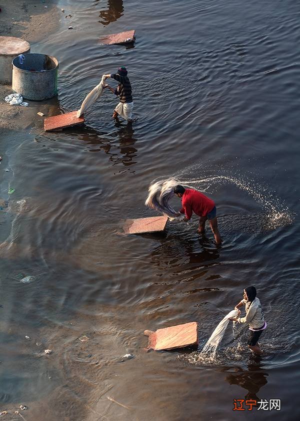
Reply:
[[198, 228], [199, 233], [204, 233], [205, 222], [208, 220], [215, 242], [217, 245], [220, 245], [221, 236], [217, 229], [216, 208], [214, 201], [205, 196], [205, 194], [200, 193], [200, 191], [194, 190], [193, 188], [184, 188], [179, 184], [174, 187], [173, 191], [177, 197], [182, 197], [182, 208], [179, 210], [179, 213], [185, 214], [184, 220], [190, 220], [192, 213], [198, 215], [200, 217]]

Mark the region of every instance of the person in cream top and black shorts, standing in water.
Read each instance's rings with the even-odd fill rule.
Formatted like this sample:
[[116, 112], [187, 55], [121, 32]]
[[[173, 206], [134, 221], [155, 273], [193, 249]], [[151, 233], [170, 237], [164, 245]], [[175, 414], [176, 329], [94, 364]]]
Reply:
[[230, 319], [238, 323], [246, 323], [249, 325], [250, 335], [248, 340], [248, 347], [257, 355], [261, 355], [262, 351], [258, 345], [258, 338], [260, 337], [263, 330], [266, 328], [266, 322], [263, 318], [263, 311], [259, 299], [256, 297], [255, 287], [248, 287], [244, 289], [243, 299], [236, 304], [234, 310], [245, 305], [246, 315], [245, 317], [238, 317], [236, 319]]

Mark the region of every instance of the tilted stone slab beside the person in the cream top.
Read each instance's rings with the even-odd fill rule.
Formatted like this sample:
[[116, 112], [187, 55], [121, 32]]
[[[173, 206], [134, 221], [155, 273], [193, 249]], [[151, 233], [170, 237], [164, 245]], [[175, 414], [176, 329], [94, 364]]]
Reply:
[[198, 344], [197, 322], [157, 329], [155, 332], [145, 330], [144, 335], [148, 336], [147, 349], [154, 351]]

